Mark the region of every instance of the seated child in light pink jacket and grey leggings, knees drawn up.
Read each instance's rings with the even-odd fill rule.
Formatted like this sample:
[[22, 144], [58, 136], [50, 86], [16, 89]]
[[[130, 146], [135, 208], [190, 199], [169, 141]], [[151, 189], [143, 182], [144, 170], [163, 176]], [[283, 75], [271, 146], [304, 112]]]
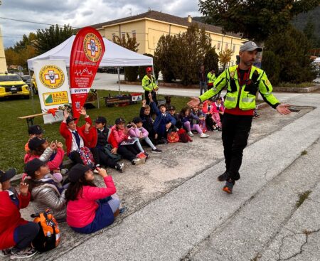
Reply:
[[[132, 139], [137, 139], [138, 141], [139, 139], [144, 139], [146, 144], [148, 144], [151, 147], [152, 153], [161, 153], [161, 149], [157, 149], [154, 146], [154, 144], [149, 139], [148, 134], [149, 132], [147, 132], [146, 129], [144, 129], [144, 127], [142, 127], [142, 119], [140, 117], [135, 117], [132, 120], [132, 128], [129, 129], [130, 137], [132, 137]], [[137, 143], [137, 146], [140, 146], [139, 149], [145, 153], [144, 149], [141, 147], [140, 142]]]

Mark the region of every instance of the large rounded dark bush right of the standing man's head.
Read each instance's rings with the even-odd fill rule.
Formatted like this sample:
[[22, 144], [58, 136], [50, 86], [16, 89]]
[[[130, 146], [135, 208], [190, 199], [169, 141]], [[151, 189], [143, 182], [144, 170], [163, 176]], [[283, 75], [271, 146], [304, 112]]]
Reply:
[[[279, 59], [281, 82], [311, 82], [316, 78], [316, 72], [308, 54], [309, 48], [310, 43], [304, 33], [292, 26], [289, 26], [287, 31], [274, 34], [265, 42], [265, 51], [272, 51]], [[274, 63], [274, 57], [270, 55], [262, 58], [262, 68], [270, 68], [271, 65], [266, 66], [264, 63]]]

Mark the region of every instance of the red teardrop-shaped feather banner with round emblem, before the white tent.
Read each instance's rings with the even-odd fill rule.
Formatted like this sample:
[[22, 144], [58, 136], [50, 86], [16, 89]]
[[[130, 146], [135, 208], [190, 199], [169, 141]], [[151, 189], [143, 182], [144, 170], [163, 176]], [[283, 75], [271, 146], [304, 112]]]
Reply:
[[105, 44], [95, 28], [82, 28], [75, 36], [70, 55], [70, 94], [75, 118], [79, 118], [104, 53]]

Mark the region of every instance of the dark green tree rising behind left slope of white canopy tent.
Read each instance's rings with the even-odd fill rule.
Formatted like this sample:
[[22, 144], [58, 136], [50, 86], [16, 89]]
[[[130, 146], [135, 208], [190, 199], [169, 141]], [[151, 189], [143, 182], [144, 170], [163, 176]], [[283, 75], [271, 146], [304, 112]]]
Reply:
[[67, 40], [70, 36], [73, 36], [75, 31], [69, 25], [60, 27], [58, 24], [50, 26], [46, 29], [37, 30], [37, 38], [34, 42], [34, 46], [37, 49], [38, 54], [46, 53], [55, 46], [58, 46], [63, 41]]

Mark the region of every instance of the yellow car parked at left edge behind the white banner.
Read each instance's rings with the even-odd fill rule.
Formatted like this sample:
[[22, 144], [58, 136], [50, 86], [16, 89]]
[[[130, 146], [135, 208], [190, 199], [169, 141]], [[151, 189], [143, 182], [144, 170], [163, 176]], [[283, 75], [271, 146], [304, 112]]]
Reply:
[[20, 96], [29, 99], [29, 88], [21, 77], [11, 73], [0, 73], [0, 97]]

